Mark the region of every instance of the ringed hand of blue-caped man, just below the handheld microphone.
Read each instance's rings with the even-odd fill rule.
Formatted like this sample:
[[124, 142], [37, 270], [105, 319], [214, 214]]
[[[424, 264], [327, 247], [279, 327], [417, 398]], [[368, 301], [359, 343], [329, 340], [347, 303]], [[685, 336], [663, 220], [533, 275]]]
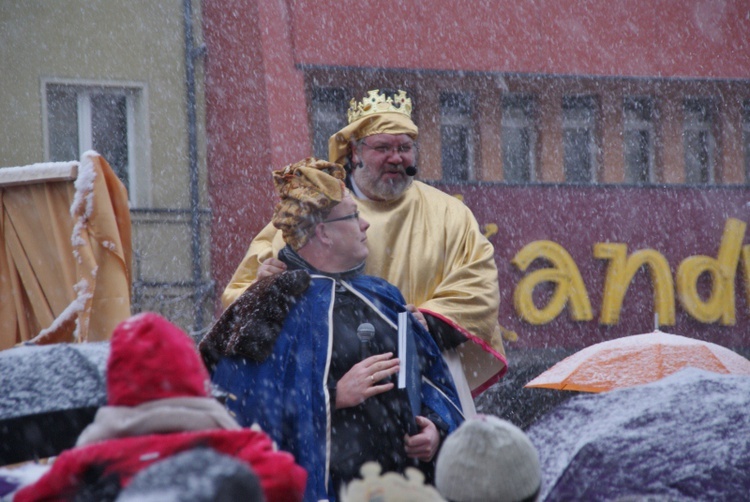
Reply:
[[398, 359], [393, 352], [370, 356], [347, 371], [336, 384], [336, 409], [362, 404], [365, 399], [393, 388], [392, 382], [378, 384], [398, 372]]

